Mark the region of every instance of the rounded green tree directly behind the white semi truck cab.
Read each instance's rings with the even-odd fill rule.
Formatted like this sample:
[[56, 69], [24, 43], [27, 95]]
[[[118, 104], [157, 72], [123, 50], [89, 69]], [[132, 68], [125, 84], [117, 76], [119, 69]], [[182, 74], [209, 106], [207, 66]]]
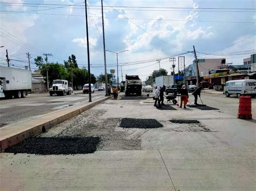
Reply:
[[60, 65], [59, 63], [47, 63], [41, 65], [41, 74], [45, 81], [47, 81], [47, 70], [50, 84], [52, 84], [53, 80], [65, 80], [68, 77], [68, 72], [63, 65]]

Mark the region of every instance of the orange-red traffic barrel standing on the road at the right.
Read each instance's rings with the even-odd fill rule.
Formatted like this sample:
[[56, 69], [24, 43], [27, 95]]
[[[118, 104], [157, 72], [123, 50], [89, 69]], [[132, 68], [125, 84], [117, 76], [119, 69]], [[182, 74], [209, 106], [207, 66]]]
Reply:
[[240, 119], [252, 119], [252, 99], [251, 96], [242, 95], [239, 98], [239, 108], [237, 117]]

